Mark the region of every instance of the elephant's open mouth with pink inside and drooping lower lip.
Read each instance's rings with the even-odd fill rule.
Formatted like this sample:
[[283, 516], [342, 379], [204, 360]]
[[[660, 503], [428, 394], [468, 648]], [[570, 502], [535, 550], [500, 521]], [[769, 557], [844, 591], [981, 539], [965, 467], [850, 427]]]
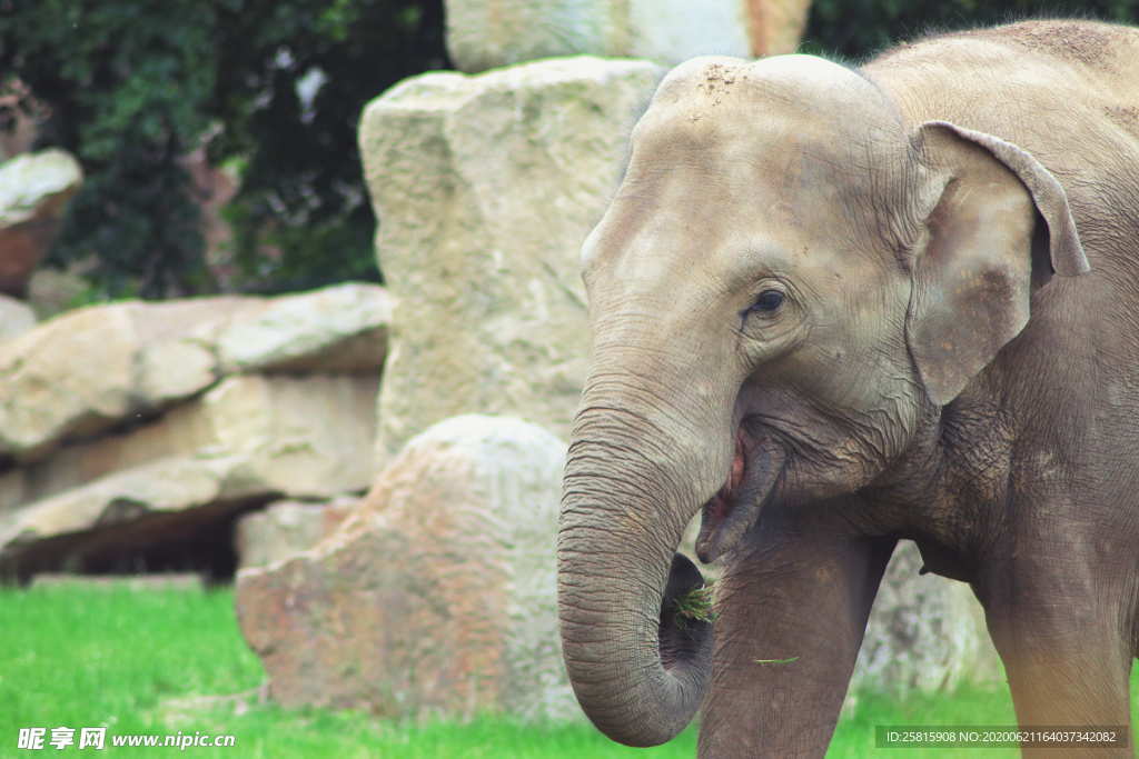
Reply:
[[728, 553], [755, 525], [782, 473], [782, 446], [754, 437], [743, 426], [723, 486], [704, 504], [696, 555], [707, 563]]

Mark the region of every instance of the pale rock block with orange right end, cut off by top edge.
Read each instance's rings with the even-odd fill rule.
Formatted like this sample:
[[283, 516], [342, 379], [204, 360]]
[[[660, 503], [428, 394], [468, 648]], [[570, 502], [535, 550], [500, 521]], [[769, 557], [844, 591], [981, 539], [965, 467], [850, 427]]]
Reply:
[[648, 58], [793, 52], [810, 0], [446, 0], [456, 66], [481, 72], [554, 56]]

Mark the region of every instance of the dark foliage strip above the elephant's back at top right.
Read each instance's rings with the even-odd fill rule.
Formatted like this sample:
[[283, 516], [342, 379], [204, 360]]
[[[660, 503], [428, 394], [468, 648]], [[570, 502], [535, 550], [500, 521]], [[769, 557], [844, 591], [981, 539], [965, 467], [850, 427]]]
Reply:
[[804, 48], [862, 60], [895, 42], [1024, 18], [1139, 20], [1139, 0], [814, 0]]

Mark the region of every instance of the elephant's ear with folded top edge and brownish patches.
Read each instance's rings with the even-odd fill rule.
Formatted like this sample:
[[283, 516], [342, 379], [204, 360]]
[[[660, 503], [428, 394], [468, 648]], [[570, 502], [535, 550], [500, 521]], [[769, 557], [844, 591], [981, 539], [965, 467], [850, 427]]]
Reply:
[[948, 122], [916, 138], [932, 171], [906, 339], [929, 397], [945, 405], [1024, 329], [1035, 287], [1090, 267], [1064, 188], [1039, 160]]

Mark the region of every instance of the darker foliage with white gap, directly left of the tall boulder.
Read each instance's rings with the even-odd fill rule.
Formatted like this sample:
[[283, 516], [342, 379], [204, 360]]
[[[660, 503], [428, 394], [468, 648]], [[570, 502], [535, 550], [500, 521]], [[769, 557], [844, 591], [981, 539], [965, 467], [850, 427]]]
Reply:
[[375, 279], [360, 112], [401, 79], [448, 65], [442, 0], [214, 2], [226, 130], [210, 151], [245, 162], [230, 206], [241, 271], [274, 289]]

